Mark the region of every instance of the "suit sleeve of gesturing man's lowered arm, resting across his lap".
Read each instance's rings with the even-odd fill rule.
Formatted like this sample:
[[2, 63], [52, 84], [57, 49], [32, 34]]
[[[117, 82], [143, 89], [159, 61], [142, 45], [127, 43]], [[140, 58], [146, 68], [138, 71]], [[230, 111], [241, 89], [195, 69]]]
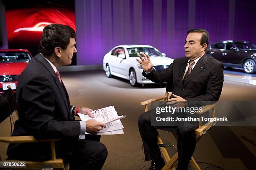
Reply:
[[205, 94], [186, 99], [188, 101], [218, 101], [224, 81], [223, 69], [223, 63], [218, 62], [210, 74]]

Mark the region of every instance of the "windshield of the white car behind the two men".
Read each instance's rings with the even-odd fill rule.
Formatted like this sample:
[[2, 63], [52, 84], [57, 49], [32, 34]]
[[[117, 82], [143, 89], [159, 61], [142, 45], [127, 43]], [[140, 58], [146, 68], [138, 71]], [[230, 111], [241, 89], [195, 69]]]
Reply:
[[130, 57], [138, 57], [138, 55], [140, 55], [142, 52], [144, 52], [146, 55], [148, 54], [150, 57], [162, 56], [161, 52], [150, 47], [127, 48], [127, 51]]

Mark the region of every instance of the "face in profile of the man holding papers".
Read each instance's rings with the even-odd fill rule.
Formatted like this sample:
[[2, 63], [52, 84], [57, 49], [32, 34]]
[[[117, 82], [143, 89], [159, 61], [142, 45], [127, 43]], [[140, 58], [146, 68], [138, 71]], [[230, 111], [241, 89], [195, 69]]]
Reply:
[[74, 52], [77, 52], [77, 49], [75, 47], [76, 41], [74, 38], [70, 38], [69, 45], [67, 45], [67, 49], [63, 50], [61, 49], [61, 63], [62, 65], [69, 65], [72, 62], [72, 57]]

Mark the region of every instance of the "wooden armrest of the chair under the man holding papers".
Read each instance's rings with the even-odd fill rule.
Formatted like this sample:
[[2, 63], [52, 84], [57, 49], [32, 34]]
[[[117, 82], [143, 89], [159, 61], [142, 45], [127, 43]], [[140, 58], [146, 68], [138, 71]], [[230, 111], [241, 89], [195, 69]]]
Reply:
[[3, 143], [35, 143], [35, 142], [52, 142], [61, 139], [40, 139], [36, 140], [33, 136], [8, 136], [0, 137], [0, 142]]

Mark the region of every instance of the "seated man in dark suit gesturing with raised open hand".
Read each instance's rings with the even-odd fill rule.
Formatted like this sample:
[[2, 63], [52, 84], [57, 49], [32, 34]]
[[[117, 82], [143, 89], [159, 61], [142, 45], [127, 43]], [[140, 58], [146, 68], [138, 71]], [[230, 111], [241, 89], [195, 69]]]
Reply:
[[[168, 82], [172, 95], [170, 103], [191, 103], [192, 101], [217, 101], [223, 86], [223, 64], [205, 54], [209, 44], [206, 30], [189, 30], [185, 41], [185, 56], [177, 58], [166, 69], [156, 71], [150, 57], [142, 53], [141, 60], [136, 59], [143, 67], [143, 76], [153, 82]], [[180, 102], [180, 103], [177, 103]], [[168, 103], [167, 103], [168, 104]], [[186, 170], [194, 153], [196, 140], [194, 125], [183, 123], [178, 126], [151, 126], [151, 114], [143, 113], [138, 119], [138, 127], [143, 141], [146, 160], [151, 161], [151, 170], [159, 170], [164, 160], [157, 145], [156, 128], [169, 128], [178, 135], [178, 170]]]

